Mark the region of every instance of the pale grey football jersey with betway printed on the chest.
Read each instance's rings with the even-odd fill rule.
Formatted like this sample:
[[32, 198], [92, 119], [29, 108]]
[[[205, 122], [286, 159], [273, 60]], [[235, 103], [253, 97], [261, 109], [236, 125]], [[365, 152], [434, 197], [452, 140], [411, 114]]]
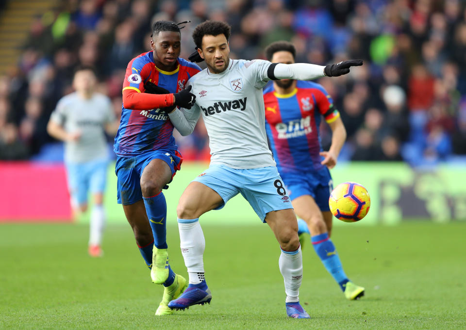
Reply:
[[234, 169], [274, 166], [265, 130], [262, 87], [271, 63], [264, 60], [230, 60], [222, 73], [208, 69], [191, 77], [196, 104], [183, 109], [188, 120], [202, 114], [209, 135], [211, 163]]

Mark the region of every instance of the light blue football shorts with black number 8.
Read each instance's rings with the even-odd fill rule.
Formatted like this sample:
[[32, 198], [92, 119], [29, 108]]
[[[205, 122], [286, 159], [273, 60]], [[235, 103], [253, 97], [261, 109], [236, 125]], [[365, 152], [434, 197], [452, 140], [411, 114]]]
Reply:
[[238, 193], [243, 195], [263, 222], [270, 211], [293, 208], [275, 166], [233, 169], [226, 165], [211, 164], [193, 181], [214, 189], [220, 195], [223, 204], [216, 210], [225, 206]]

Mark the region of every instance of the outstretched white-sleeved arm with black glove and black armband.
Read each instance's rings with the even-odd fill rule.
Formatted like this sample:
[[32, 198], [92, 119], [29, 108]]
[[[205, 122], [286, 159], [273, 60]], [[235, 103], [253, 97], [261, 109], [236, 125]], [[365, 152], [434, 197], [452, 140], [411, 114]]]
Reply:
[[351, 66], [363, 65], [361, 60], [343, 61], [332, 65], [316, 65], [308, 63], [272, 63], [267, 71], [267, 75], [272, 80], [296, 79], [312, 80], [327, 77], [338, 77], [350, 72]]

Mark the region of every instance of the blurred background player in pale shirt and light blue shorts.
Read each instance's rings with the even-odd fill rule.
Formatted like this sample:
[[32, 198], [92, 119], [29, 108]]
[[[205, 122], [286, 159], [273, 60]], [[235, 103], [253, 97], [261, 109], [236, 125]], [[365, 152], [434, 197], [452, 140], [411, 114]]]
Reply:
[[117, 128], [111, 101], [94, 92], [96, 83], [92, 67], [79, 67], [73, 79], [76, 92], [60, 99], [47, 126], [52, 137], [65, 142], [68, 188], [75, 215], [87, 210], [89, 191], [93, 195], [89, 235], [89, 254], [93, 257], [103, 253], [103, 194], [109, 161], [105, 131], [114, 136]]

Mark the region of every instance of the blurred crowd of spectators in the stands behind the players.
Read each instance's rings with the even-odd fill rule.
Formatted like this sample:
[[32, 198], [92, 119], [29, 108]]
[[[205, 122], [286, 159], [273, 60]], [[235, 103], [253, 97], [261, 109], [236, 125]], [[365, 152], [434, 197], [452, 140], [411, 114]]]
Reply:
[[[232, 58], [264, 58], [267, 44], [289, 40], [296, 62], [363, 59], [350, 75], [322, 78], [348, 131], [341, 158], [435, 164], [466, 154], [466, 3], [460, 0], [67, 0], [31, 22], [17, 66], [0, 77], [0, 159], [44, 154], [46, 124], [72, 91], [78, 64], [98, 70], [98, 91], [121, 113], [128, 62], [150, 50], [151, 22], [205, 19], [232, 26]], [[201, 66], [203, 63], [201, 63]], [[328, 148], [330, 129], [322, 125]], [[188, 159], [208, 159], [208, 138], [175, 133]], [[112, 141], [109, 137], [109, 142]], [[40, 158], [40, 157], [39, 157]]]

